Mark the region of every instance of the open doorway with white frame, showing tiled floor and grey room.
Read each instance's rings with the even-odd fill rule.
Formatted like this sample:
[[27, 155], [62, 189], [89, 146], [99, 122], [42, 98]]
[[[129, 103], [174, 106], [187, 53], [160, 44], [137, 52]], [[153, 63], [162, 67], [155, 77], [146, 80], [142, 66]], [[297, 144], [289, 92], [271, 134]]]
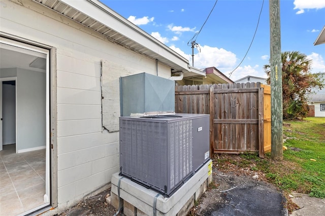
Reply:
[[24, 215], [50, 205], [49, 50], [0, 42], [0, 215]]

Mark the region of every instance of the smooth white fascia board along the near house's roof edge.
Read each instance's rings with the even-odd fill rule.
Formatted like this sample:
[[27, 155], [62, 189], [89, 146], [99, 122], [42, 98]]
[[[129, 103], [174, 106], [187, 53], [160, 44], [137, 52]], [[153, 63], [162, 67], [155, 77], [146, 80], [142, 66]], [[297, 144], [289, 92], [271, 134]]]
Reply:
[[[41, 3], [43, 6], [47, 6], [52, 10], [67, 16], [73, 19], [72, 16], [68, 16], [68, 13], [60, 12], [58, 9], [50, 7], [47, 5], [47, 0], [34, 0], [38, 3]], [[53, 1], [51, 1], [53, 2]], [[55, 0], [54, 2], [61, 2], [62, 4], [66, 4], [67, 6], [73, 8], [74, 10], [85, 14], [91, 17], [93, 20], [98, 22], [101, 25], [107, 26], [114, 32], [123, 35], [125, 39], [134, 42], [137, 44], [139, 50], [136, 50], [139, 53], [147, 55], [153, 59], [157, 59], [158, 61], [170, 66], [172, 69], [177, 71], [189, 72], [190, 69], [188, 67], [188, 60], [170, 49], [163, 43], [156, 40], [150, 34], [143, 31], [141, 28], [128, 21], [127, 19], [120, 16], [118, 13], [104, 5], [98, 0], [83, 0], [83, 1], [75, 1], [75, 0]], [[59, 7], [58, 7], [59, 8]], [[82, 22], [80, 22], [83, 24]], [[92, 28], [91, 26], [88, 26]], [[94, 29], [94, 28], [92, 28]], [[94, 29], [96, 30], [96, 29]], [[98, 31], [98, 30], [96, 30]], [[105, 34], [105, 33], [103, 33]], [[107, 35], [106, 35], [107, 36]], [[119, 42], [123, 46], [127, 47], [128, 44], [123, 44]]]

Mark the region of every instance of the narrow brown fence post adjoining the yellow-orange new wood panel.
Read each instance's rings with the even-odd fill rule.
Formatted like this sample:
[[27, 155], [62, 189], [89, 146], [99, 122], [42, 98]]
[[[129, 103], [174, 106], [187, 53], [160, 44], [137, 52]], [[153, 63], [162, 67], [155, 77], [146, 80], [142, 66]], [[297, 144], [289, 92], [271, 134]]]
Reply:
[[258, 156], [264, 158], [264, 88], [258, 88]]

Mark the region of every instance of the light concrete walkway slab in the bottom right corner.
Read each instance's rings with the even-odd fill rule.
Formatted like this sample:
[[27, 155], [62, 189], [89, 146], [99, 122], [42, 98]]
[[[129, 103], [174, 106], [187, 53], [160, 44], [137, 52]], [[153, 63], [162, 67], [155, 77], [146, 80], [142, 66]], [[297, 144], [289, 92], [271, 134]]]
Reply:
[[300, 206], [300, 209], [295, 210], [292, 216], [321, 216], [325, 215], [325, 199], [310, 197], [307, 194], [292, 194], [294, 197], [291, 200]]

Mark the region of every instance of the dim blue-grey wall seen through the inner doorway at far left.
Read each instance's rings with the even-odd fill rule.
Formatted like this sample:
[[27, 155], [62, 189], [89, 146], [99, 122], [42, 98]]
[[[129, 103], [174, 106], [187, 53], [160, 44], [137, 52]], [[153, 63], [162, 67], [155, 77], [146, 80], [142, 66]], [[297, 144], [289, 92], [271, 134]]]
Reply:
[[3, 145], [16, 143], [16, 86], [3, 84]]

